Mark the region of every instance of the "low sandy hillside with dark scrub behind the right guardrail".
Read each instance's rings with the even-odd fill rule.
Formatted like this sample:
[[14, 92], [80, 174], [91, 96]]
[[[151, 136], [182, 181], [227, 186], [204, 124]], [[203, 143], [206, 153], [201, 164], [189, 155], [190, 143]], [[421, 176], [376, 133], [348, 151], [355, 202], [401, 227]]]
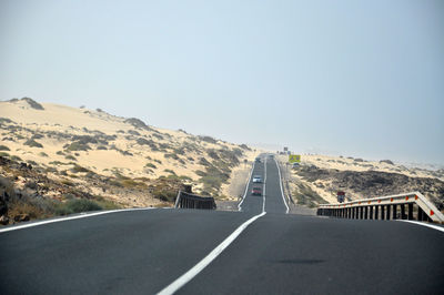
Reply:
[[295, 199], [304, 205], [336, 203], [336, 192], [344, 191], [349, 200], [375, 197], [420, 191], [435, 205], [444, 208], [444, 171], [406, 167], [390, 160], [302, 155], [301, 165], [286, 166], [289, 185]]

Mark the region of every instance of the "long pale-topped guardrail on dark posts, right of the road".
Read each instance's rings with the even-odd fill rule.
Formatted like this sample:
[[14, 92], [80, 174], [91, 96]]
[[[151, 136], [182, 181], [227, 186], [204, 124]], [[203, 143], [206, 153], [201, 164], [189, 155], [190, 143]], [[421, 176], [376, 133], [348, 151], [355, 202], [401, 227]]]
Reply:
[[417, 220], [444, 224], [444, 215], [420, 192], [322, 204], [317, 215], [353, 220]]

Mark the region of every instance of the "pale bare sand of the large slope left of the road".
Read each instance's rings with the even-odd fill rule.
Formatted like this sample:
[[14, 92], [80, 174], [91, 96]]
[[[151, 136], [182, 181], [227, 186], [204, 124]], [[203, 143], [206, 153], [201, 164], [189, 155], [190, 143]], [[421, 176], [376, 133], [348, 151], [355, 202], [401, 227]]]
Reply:
[[[175, 174], [183, 182], [192, 184], [193, 190], [199, 193], [204, 187], [200, 182], [201, 176], [196, 173], [205, 171], [202, 159], [214, 163], [219, 161], [219, 156], [222, 156], [220, 151], [228, 153], [241, 151], [239, 161], [243, 163], [245, 159], [251, 160], [255, 155], [254, 151], [240, 145], [213, 140], [206, 142], [183, 131], [138, 126], [125, 122], [124, 118], [100, 110], [53, 103], [41, 103], [41, 105], [44, 110], [37, 110], [23, 100], [0, 102], [0, 118], [12, 121], [12, 123], [4, 122], [0, 130], [1, 144], [9, 149], [3, 152], [11, 156], [56, 169], [54, 177], [73, 164], [108, 176], [123, 175], [131, 179], [157, 180], [160, 176]], [[90, 136], [102, 142], [87, 143], [90, 149], [85, 151], [69, 151], [67, 146], [73, 142], [72, 136], [75, 135]], [[42, 144], [43, 148], [24, 145], [24, 142], [30, 139]], [[141, 139], [154, 144], [155, 149], [138, 143]], [[211, 152], [215, 152], [214, 159], [210, 156]], [[229, 161], [228, 159], [223, 157], [223, 161]], [[232, 174], [238, 173], [238, 165], [234, 162], [229, 164], [233, 170]], [[72, 181], [82, 182], [75, 179]], [[232, 180], [232, 182], [235, 181]], [[226, 189], [229, 186], [224, 185], [223, 190], [214, 194], [223, 194], [229, 199], [235, 197], [230, 195]], [[101, 190], [90, 187], [90, 191], [99, 193]], [[147, 202], [137, 203], [147, 205]]]

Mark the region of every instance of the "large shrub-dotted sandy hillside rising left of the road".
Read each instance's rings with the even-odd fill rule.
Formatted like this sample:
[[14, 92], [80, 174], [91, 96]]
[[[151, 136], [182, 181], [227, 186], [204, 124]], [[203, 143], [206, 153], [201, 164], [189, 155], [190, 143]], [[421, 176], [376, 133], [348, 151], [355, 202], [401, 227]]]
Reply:
[[[230, 183], [245, 180], [233, 175], [243, 175], [241, 164], [256, 154], [246, 145], [159, 129], [100, 109], [31, 99], [0, 102], [0, 133], [3, 157], [123, 206], [171, 205], [181, 184], [192, 184], [199, 194], [236, 199]], [[1, 170], [3, 177], [11, 173]], [[16, 177], [19, 189], [26, 182]], [[63, 200], [59, 189], [46, 196]]]

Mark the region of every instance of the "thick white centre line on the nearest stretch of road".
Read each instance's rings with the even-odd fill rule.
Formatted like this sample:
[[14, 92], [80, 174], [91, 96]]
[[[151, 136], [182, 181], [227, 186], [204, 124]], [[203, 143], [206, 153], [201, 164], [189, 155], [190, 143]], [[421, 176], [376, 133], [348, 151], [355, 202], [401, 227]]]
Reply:
[[210, 254], [208, 254], [202, 261], [200, 261], [196, 265], [194, 265], [190, 271], [181, 275], [173, 283], [168, 285], [165, 288], [160, 291], [159, 295], [169, 295], [173, 294], [181, 287], [183, 287], [188, 282], [193, 279], [200, 272], [203, 271], [212, 261], [214, 261], [250, 224], [252, 224], [259, 217], [265, 215], [265, 212], [262, 212], [259, 215], [255, 215], [241, 224], [231, 235], [229, 235], [219, 246], [216, 246]]

